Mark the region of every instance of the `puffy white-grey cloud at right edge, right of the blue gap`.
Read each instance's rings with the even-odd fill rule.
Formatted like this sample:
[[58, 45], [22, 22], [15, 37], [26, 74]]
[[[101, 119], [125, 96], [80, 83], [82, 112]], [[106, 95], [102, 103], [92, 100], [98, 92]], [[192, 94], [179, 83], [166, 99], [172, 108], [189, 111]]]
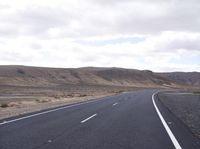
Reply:
[[164, 32], [158, 36], [147, 38], [146, 43], [154, 43], [151, 49], [158, 53], [172, 53], [178, 50], [199, 51], [200, 33]]

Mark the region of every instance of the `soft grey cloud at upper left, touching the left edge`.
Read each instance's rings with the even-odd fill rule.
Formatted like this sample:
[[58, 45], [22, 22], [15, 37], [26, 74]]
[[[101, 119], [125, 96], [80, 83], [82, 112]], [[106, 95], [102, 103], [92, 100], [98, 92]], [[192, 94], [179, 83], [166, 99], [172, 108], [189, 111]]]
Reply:
[[32, 6], [0, 17], [0, 35], [44, 35], [49, 28], [68, 24], [65, 11]]

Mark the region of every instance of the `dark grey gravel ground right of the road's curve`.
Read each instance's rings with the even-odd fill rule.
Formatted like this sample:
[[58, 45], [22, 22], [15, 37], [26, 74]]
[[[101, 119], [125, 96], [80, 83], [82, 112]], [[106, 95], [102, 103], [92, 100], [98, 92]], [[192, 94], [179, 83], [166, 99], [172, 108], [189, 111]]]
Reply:
[[160, 101], [200, 139], [200, 94], [162, 92]]

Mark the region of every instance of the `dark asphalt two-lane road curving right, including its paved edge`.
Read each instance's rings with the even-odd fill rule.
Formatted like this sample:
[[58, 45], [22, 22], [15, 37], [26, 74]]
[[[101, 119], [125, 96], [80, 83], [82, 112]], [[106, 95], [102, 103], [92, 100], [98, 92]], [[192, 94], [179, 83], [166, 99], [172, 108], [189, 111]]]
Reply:
[[199, 149], [199, 140], [156, 94], [152, 100], [154, 92], [124, 93], [1, 120], [0, 149]]

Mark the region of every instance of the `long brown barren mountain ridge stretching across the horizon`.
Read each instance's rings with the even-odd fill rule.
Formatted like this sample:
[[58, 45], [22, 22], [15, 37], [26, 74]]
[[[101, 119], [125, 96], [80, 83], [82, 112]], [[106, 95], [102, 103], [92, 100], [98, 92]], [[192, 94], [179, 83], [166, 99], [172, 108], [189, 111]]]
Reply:
[[136, 87], [200, 85], [200, 73], [154, 73], [122, 68], [44, 68], [0, 66], [0, 85], [55, 86], [92, 84]]

